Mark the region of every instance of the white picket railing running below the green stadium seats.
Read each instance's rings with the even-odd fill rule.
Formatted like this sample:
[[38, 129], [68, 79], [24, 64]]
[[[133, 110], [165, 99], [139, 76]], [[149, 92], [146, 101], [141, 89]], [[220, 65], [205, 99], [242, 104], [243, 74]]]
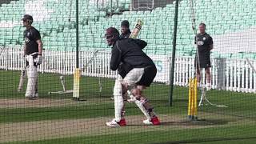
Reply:
[[[0, 47], [0, 69], [22, 70], [24, 58], [22, 49]], [[73, 74], [75, 52], [44, 50], [44, 61], [38, 70], [42, 73]], [[150, 55], [158, 68], [155, 82], [170, 82], [171, 58], [166, 55]], [[117, 73], [110, 70], [110, 51], [80, 51], [79, 67], [82, 75], [90, 77], [115, 78]], [[211, 59], [211, 85], [213, 89], [256, 93], [256, 74], [246, 59]], [[250, 60], [256, 67], [256, 61]], [[187, 86], [194, 77], [194, 58], [175, 58], [174, 85]]]

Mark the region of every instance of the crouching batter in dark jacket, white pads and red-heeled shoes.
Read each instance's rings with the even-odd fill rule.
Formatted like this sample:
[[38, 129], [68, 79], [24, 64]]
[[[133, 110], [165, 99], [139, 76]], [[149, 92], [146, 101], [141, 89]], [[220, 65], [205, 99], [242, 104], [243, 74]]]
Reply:
[[114, 112], [115, 118], [106, 122], [107, 126], [126, 126], [126, 121], [122, 110], [124, 107], [124, 97], [127, 90], [130, 91], [130, 100], [145, 114], [146, 125], [159, 125], [160, 122], [154, 107], [150, 105], [149, 100], [142, 90], [150, 86], [157, 74], [156, 66], [150, 57], [142, 49], [147, 43], [133, 38], [120, 38], [119, 32], [114, 27], [106, 30], [106, 42], [108, 46], [113, 46], [111, 51], [110, 69], [118, 70], [119, 78], [114, 84]]

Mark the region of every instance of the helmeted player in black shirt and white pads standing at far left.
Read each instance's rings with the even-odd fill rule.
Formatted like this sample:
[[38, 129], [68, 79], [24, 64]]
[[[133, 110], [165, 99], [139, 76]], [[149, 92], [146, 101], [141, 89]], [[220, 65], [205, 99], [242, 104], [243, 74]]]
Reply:
[[24, 30], [24, 57], [26, 58], [27, 86], [26, 98], [38, 98], [38, 65], [42, 64], [42, 41], [38, 30], [32, 25], [33, 17], [26, 14], [22, 18]]

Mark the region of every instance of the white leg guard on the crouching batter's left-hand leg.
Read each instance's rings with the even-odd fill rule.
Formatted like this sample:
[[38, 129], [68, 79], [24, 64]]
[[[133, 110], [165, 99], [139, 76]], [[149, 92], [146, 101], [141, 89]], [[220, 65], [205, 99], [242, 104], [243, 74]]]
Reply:
[[122, 84], [120, 79], [117, 79], [114, 83], [114, 117], [116, 122], [120, 122], [121, 120], [123, 106]]

